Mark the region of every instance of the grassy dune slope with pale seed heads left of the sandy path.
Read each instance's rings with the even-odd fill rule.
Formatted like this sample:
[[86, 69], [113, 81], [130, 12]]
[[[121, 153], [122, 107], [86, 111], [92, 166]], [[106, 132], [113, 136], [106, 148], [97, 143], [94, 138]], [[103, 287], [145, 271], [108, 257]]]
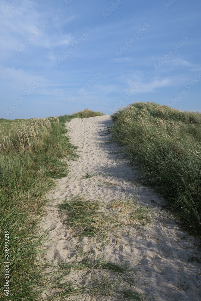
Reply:
[[[41, 300], [46, 287], [61, 286], [61, 271], [45, 275], [47, 266], [38, 261], [45, 237], [38, 235], [37, 225], [48, 201], [46, 195], [55, 187], [54, 179], [68, 174], [63, 159], [77, 156], [64, 123], [99, 115], [103, 114], [86, 109], [58, 118], [0, 119], [0, 299]], [[5, 233], [9, 236], [6, 244]], [[9, 297], [4, 296], [4, 254], [10, 262]], [[71, 287], [66, 284], [63, 289], [70, 291]]]

